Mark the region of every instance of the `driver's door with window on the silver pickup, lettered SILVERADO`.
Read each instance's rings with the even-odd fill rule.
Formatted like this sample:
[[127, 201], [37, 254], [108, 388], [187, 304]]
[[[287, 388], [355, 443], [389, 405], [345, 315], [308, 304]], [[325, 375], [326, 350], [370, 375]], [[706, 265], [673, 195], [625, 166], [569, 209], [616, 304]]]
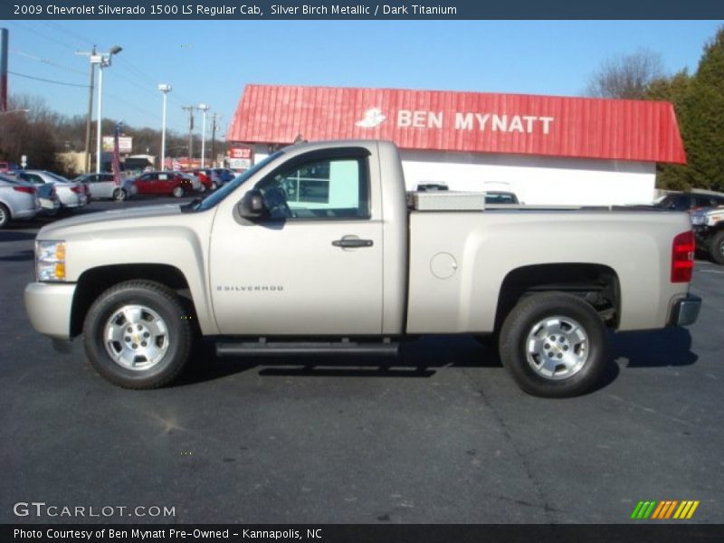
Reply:
[[312, 151], [256, 184], [269, 216], [219, 209], [210, 275], [222, 333], [381, 333], [383, 226], [369, 160], [364, 148]]

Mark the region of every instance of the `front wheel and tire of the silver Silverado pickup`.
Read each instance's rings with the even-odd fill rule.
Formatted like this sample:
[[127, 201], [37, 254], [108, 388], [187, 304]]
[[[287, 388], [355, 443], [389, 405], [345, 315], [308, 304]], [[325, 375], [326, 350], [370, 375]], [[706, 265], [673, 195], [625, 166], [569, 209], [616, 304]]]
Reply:
[[124, 388], [167, 385], [191, 352], [194, 330], [191, 319], [182, 319], [186, 313], [176, 293], [160, 283], [125, 281], [111, 287], [83, 324], [90, 364]]

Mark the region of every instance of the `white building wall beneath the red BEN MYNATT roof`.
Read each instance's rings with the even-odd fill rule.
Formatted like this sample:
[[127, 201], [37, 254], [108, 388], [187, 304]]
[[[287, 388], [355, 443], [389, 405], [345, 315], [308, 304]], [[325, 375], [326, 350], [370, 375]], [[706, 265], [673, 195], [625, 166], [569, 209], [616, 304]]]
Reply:
[[[268, 146], [254, 145], [254, 162]], [[444, 183], [451, 190], [504, 190], [529, 205], [651, 204], [656, 165], [583, 158], [401, 150], [405, 185]]]

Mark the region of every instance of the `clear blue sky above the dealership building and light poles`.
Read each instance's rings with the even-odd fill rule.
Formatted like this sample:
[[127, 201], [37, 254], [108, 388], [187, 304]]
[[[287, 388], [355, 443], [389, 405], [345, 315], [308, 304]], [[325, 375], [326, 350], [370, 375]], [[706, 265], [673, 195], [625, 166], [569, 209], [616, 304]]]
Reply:
[[[123, 48], [103, 75], [104, 118], [187, 133], [205, 103], [219, 133], [248, 83], [579, 96], [601, 64], [640, 50], [696, 71], [724, 21], [0, 21], [12, 94], [86, 115], [93, 45]], [[65, 84], [59, 84], [65, 83]], [[95, 100], [95, 97], [94, 97]], [[97, 104], [93, 105], [93, 118]], [[207, 118], [208, 119], [208, 118]], [[200, 133], [197, 114], [195, 132]], [[207, 122], [210, 136], [210, 121]]]

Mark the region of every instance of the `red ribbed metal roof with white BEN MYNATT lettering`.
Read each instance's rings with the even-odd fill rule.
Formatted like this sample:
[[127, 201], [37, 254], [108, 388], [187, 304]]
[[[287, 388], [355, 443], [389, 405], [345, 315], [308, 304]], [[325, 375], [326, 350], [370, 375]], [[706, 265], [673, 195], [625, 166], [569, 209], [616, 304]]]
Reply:
[[400, 148], [685, 164], [672, 104], [524, 94], [247, 85], [227, 141], [375, 138]]

